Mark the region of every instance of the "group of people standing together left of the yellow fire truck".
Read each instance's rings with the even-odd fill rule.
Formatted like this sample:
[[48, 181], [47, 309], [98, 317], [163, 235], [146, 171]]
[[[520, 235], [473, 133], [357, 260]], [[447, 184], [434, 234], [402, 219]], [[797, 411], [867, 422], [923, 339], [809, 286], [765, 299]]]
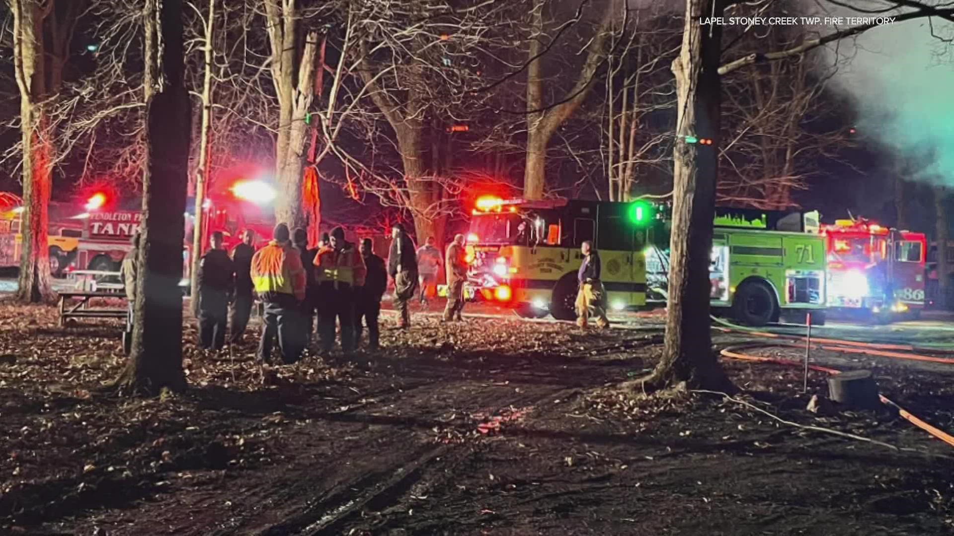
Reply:
[[272, 240], [255, 250], [255, 234], [245, 231], [232, 255], [223, 249], [221, 233], [213, 233], [211, 249], [201, 258], [198, 274], [199, 340], [205, 349], [218, 350], [226, 341], [227, 311], [232, 305], [230, 340], [239, 341], [248, 324], [255, 295], [262, 303], [263, 327], [259, 359], [270, 361], [278, 342], [282, 361], [301, 358], [315, 331], [321, 353], [329, 353], [340, 326], [341, 347], [350, 354], [361, 345], [364, 325], [368, 347], [380, 344], [378, 317], [388, 277], [394, 280], [394, 304], [400, 315], [398, 328], [410, 327], [410, 302], [436, 294], [437, 275], [446, 268], [447, 304], [444, 320], [462, 320], [467, 258], [464, 236], [454, 237], [445, 258], [428, 238], [415, 250], [401, 224], [391, 231], [391, 248], [385, 262], [374, 253], [374, 243], [364, 238], [360, 247], [344, 239], [335, 228], [321, 237], [319, 247], [307, 247], [307, 233], [287, 225], [275, 227]]

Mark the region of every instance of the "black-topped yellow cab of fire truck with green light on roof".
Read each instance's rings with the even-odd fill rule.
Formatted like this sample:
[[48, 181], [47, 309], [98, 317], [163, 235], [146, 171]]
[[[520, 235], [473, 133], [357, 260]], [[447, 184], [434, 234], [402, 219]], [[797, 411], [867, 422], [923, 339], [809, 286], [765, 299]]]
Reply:
[[477, 199], [467, 235], [467, 287], [520, 316], [575, 318], [580, 245], [591, 240], [615, 310], [646, 304], [643, 248], [652, 205], [584, 200]]

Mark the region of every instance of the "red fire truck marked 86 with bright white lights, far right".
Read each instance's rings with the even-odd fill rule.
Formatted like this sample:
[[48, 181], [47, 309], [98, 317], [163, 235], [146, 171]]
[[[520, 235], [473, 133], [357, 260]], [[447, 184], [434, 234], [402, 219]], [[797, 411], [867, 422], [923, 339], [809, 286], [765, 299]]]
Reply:
[[927, 237], [867, 219], [822, 225], [828, 253], [828, 307], [879, 320], [924, 308]]

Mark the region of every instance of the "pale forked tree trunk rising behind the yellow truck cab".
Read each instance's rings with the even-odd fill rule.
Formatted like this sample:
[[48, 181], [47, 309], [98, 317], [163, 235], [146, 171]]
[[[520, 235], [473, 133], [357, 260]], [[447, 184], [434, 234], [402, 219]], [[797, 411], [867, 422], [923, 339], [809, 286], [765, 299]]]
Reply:
[[[542, 199], [547, 183], [547, 146], [550, 138], [583, 104], [596, 79], [596, 70], [603, 63], [603, 49], [612, 22], [612, 2], [605, 11], [590, 42], [583, 68], [570, 91], [558, 104], [547, 107], [543, 102], [543, 56], [545, 50], [543, 9], [546, 0], [536, 0], [531, 13], [529, 58], [527, 68], [527, 165], [524, 170], [524, 198]], [[545, 54], [544, 54], [545, 55]], [[538, 57], [540, 56], [540, 57]]]

